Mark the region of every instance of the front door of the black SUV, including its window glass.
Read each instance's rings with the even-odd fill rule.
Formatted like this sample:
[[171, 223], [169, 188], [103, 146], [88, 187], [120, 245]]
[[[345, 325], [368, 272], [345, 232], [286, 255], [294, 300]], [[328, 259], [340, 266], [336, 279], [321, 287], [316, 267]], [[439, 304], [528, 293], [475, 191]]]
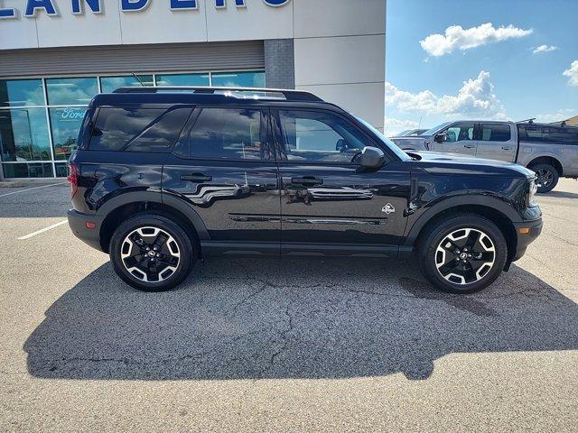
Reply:
[[378, 144], [346, 117], [287, 109], [273, 119], [282, 253], [396, 253], [406, 228], [406, 164], [362, 170], [357, 155]]

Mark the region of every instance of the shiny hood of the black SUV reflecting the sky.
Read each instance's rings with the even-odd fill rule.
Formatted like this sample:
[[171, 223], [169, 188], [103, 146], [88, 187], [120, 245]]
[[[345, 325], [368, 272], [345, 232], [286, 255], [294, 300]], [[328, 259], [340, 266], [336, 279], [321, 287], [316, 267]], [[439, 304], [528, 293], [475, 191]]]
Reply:
[[432, 174], [475, 174], [479, 176], [503, 176], [534, 178], [536, 173], [514, 162], [485, 160], [457, 153], [407, 152], [415, 158], [416, 165]]

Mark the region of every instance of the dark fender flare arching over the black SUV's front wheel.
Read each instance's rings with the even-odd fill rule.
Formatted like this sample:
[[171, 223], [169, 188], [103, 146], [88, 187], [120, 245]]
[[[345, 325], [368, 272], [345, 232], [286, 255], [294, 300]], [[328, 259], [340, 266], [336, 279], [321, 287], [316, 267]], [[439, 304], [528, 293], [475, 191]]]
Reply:
[[452, 196], [450, 198], [441, 199], [417, 218], [414, 225], [406, 232], [407, 235], [404, 245], [414, 245], [417, 236], [420, 234], [424, 226], [430, 222], [432, 218], [437, 217], [443, 211], [452, 207], [468, 205], [483, 206], [498, 210], [513, 223], [522, 221], [522, 217], [518, 214], [517, 210], [504, 199], [481, 194], [462, 194], [460, 196]]

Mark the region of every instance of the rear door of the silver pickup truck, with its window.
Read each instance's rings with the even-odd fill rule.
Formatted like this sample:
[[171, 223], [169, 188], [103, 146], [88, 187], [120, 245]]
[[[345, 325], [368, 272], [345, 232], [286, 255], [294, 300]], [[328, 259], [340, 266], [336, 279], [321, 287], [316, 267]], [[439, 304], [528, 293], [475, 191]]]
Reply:
[[517, 140], [509, 124], [480, 124], [477, 134], [476, 156], [489, 160], [516, 160]]

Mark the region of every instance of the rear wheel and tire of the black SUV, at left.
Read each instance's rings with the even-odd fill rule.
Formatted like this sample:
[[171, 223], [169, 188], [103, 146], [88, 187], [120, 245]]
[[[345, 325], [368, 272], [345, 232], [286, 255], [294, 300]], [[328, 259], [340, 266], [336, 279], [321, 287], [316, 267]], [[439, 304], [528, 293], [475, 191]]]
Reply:
[[191, 273], [196, 257], [182, 227], [155, 214], [140, 214], [118, 226], [109, 251], [117, 275], [143, 291], [173, 289]]

